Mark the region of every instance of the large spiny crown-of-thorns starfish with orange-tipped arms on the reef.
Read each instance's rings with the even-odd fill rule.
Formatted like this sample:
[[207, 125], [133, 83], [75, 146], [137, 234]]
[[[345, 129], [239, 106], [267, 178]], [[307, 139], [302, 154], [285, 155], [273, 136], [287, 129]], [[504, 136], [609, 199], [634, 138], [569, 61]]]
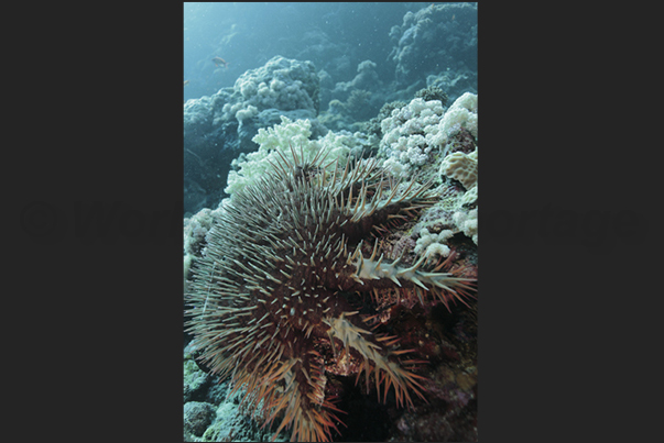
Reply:
[[400, 267], [402, 257], [379, 255], [378, 237], [362, 255], [372, 229], [436, 201], [428, 185], [395, 182], [374, 159], [341, 168], [325, 164], [323, 151], [277, 154], [273, 171], [238, 191], [209, 231], [186, 295], [187, 326], [200, 361], [230, 376], [232, 391], [247, 389], [243, 403], [264, 425], [281, 419], [274, 436], [292, 429], [291, 441], [328, 441], [342, 412], [326, 394], [330, 359], [361, 362], [356, 383], [364, 373], [383, 401], [390, 388], [398, 406], [412, 406], [413, 392], [424, 399], [424, 377], [413, 372], [421, 362], [404, 359], [412, 350], [399, 337], [363, 329], [352, 297], [370, 303], [364, 295], [398, 289], [448, 307], [472, 297], [471, 279], [424, 272], [424, 259]]

